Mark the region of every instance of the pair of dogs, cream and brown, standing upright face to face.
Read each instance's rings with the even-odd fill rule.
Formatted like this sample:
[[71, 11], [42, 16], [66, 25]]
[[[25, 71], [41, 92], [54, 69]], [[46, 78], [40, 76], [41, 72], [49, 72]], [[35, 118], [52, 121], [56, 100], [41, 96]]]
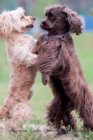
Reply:
[[0, 109], [0, 118], [6, 116], [4, 126], [10, 129], [16, 129], [20, 121], [30, 118], [28, 99], [38, 68], [43, 84], [48, 83], [54, 95], [47, 108], [48, 125], [58, 131], [63, 126], [76, 131], [77, 123], [72, 115], [76, 110], [83, 119], [84, 128], [93, 130], [93, 96], [71, 37], [71, 33], [82, 33], [81, 19], [61, 5], [48, 7], [45, 15], [41, 28], [48, 34], [41, 35], [36, 46], [33, 37], [23, 34], [33, 27], [34, 19], [25, 17], [22, 9], [4, 12], [0, 17], [0, 35], [6, 40], [11, 68], [9, 93]]

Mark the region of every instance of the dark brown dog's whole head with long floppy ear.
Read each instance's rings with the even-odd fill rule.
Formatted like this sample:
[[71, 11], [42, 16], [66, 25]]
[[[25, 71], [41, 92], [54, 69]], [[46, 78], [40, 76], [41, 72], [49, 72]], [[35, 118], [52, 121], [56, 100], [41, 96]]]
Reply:
[[82, 22], [78, 14], [68, 6], [53, 5], [46, 8], [46, 18], [41, 22], [42, 29], [48, 32], [71, 32], [79, 35], [82, 33]]

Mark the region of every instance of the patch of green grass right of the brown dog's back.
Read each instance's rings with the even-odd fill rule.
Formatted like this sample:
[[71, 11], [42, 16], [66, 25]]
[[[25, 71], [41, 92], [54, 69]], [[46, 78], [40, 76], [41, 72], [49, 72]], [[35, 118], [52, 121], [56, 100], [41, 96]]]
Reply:
[[86, 80], [88, 83], [93, 83], [93, 33], [73, 37]]

